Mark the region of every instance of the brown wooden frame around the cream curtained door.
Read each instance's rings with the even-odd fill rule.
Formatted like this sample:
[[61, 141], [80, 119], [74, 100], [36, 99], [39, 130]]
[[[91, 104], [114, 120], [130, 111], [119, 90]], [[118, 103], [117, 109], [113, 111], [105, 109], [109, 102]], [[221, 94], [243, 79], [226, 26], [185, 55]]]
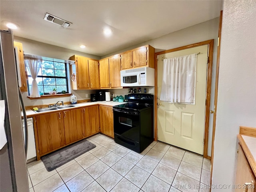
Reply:
[[204, 158], [211, 159], [208, 156], [208, 134], [209, 134], [209, 118], [210, 118], [210, 99], [211, 99], [211, 86], [212, 86], [212, 61], [213, 61], [213, 47], [214, 47], [214, 39], [202, 41], [174, 49], [169, 49], [161, 52], [155, 53], [155, 98], [154, 98], [154, 131], [155, 136], [154, 140], [157, 141], [157, 96], [158, 96], [158, 87], [157, 87], [157, 56], [165, 53], [185, 50], [193, 47], [198, 47], [202, 45], [208, 45], [208, 67], [207, 67], [207, 78], [206, 78], [206, 107], [205, 107], [205, 120], [204, 120]]

